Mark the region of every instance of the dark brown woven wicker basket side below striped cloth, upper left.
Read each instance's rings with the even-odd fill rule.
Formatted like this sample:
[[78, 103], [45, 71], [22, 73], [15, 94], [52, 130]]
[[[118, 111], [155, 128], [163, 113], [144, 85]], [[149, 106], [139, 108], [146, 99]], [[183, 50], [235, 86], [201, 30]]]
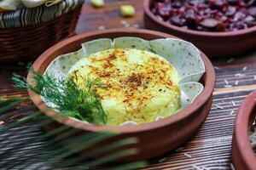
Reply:
[[74, 34], [82, 4], [54, 20], [32, 26], [0, 28], [0, 61], [36, 59], [45, 49]]

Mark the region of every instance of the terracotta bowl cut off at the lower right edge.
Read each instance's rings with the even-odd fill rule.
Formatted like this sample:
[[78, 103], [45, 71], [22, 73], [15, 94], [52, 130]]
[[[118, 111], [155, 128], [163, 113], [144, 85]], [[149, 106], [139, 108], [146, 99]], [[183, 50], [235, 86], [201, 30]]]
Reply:
[[248, 139], [248, 127], [256, 116], [256, 91], [242, 102], [237, 115], [232, 141], [232, 161], [237, 170], [254, 170], [256, 156]]

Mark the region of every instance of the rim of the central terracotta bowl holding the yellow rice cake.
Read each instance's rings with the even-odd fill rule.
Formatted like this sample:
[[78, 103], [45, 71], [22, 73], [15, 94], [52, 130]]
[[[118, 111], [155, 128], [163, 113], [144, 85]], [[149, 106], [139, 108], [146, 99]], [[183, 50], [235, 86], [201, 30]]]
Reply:
[[[166, 33], [162, 33], [159, 31], [148, 31], [148, 30], [143, 30], [143, 29], [109, 29], [109, 30], [105, 30], [105, 31], [92, 31], [92, 32], [88, 32], [88, 33], [84, 33], [84, 34], [80, 34], [74, 37], [70, 37], [67, 38], [66, 40], [59, 42], [57, 44], [55, 44], [55, 46], [49, 48], [48, 50], [46, 50], [44, 52], [44, 54], [41, 54], [38, 59], [33, 63], [33, 68], [36, 71], [42, 71], [42, 64], [44, 64], [45, 62], [48, 62], [49, 65], [49, 55], [54, 54], [56, 50], [60, 50], [61, 48], [66, 47], [68, 44], [70, 43], [75, 43], [75, 42], [79, 42], [81, 41], [81, 39], [86, 38], [86, 37], [95, 37], [96, 35], [99, 34], [109, 34], [109, 33], [134, 33], [136, 32], [137, 34], [148, 34], [148, 35], [154, 35], [156, 37], [173, 37], [172, 35], [166, 34]], [[146, 38], [145, 38], [146, 39]], [[57, 57], [57, 56], [55, 56]], [[181, 120], [183, 120], [184, 118], [186, 118], [187, 116], [191, 116], [193, 113], [195, 113], [196, 111], [198, 111], [203, 105], [205, 105], [207, 103], [207, 100], [211, 98], [212, 96], [212, 92], [214, 89], [214, 84], [215, 84], [215, 72], [212, 66], [211, 61], [207, 58], [207, 56], [203, 53], [201, 53], [201, 59], [203, 60], [205, 67], [206, 67], [206, 73], [205, 73], [205, 77], [207, 77], [207, 80], [205, 80], [205, 88], [203, 89], [203, 91], [201, 92], [200, 95], [198, 95], [196, 97], [196, 99], [193, 101], [193, 103], [191, 105], [189, 105], [188, 107], [184, 108], [182, 111], [178, 111], [177, 114], [173, 115], [173, 116], [169, 116], [166, 117], [165, 119], [162, 119], [160, 121], [157, 122], [148, 122], [148, 123], [143, 123], [143, 124], [139, 124], [136, 126], [122, 126], [122, 127], [114, 127], [114, 126], [96, 126], [96, 125], [89, 125], [85, 122], [79, 122], [79, 121], [75, 121], [72, 118], [61, 118], [61, 116], [58, 116], [58, 114], [53, 111], [53, 110], [49, 110], [49, 107], [47, 105], [44, 104], [43, 100], [41, 99], [41, 97], [38, 94], [35, 94], [34, 92], [32, 92], [31, 90], [28, 90], [28, 94], [32, 99], [32, 102], [34, 103], [34, 105], [36, 105], [38, 107], [38, 109], [42, 112], [44, 112], [44, 114], [46, 114], [47, 116], [51, 116], [55, 119], [55, 121], [60, 122], [62, 124], [65, 124], [69, 127], [75, 127], [78, 129], [84, 129], [87, 131], [92, 131], [92, 132], [104, 132], [104, 131], [113, 131], [113, 132], [117, 132], [117, 133], [138, 133], [138, 132], [143, 132], [143, 131], [148, 131], [148, 130], [152, 130], [154, 128], [158, 128], [158, 127], [165, 127], [169, 124], [172, 124], [174, 122], [179, 122]], [[46, 69], [46, 66], [44, 68], [44, 70]], [[44, 71], [43, 70], [43, 71]], [[28, 73], [27, 76], [27, 80], [29, 82], [32, 81], [31, 79], [31, 72]], [[39, 105], [41, 102], [43, 102], [43, 105]]]

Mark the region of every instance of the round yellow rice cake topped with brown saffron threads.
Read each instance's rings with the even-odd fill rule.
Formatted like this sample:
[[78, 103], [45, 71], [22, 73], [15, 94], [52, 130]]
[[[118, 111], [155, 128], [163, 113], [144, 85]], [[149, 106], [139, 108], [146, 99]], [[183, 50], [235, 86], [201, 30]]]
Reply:
[[158, 54], [131, 48], [110, 48], [80, 59], [68, 72], [79, 86], [97, 78], [105, 88], [93, 89], [108, 116], [108, 125], [153, 122], [180, 108], [175, 68]]

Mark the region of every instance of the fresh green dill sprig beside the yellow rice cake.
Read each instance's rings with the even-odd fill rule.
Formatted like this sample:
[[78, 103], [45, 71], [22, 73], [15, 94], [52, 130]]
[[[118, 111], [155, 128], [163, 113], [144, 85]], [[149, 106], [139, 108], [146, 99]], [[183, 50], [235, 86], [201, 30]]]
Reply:
[[62, 116], [71, 116], [96, 125], [106, 124], [107, 115], [98, 94], [93, 91], [94, 88], [104, 88], [98, 79], [79, 77], [83, 84], [79, 86], [72, 78], [57, 79], [33, 69], [31, 71], [33, 83], [14, 73], [12, 80], [15, 88], [31, 89], [53, 103], [53, 109], [58, 110]]

